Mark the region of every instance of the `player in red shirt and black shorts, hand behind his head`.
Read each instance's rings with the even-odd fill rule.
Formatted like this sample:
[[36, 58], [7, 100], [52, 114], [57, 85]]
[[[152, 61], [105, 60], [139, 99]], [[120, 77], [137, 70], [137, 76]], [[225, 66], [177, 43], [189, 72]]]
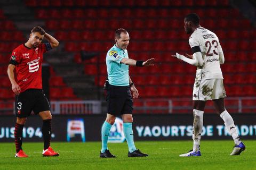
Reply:
[[[48, 43], [42, 44], [45, 38]], [[43, 54], [58, 47], [59, 42], [44, 29], [37, 26], [31, 30], [27, 43], [15, 48], [7, 69], [7, 74], [15, 94], [15, 157], [28, 157], [22, 150], [22, 130], [31, 111], [39, 114], [43, 120], [42, 132], [44, 138], [43, 156], [59, 156], [50, 147], [51, 119], [50, 104], [42, 90], [42, 61]], [[14, 69], [17, 81], [14, 79]]]

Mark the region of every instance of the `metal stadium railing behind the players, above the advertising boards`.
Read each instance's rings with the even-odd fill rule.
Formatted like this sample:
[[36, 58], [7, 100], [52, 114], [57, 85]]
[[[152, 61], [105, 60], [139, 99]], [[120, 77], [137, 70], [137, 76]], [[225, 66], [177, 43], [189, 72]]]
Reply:
[[[78, 100], [78, 101], [51, 101], [52, 114], [105, 114], [106, 101], [103, 100]], [[256, 113], [256, 97], [228, 97], [225, 105], [230, 113]], [[0, 103], [0, 115], [14, 113], [14, 102]], [[8, 107], [7, 107], [8, 106]], [[191, 98], [154, 98], [135, 99], [134, 114], [188, 114], [192, 111]], [[205, 113], [215, 113], [212, 101], [205, 106]]]

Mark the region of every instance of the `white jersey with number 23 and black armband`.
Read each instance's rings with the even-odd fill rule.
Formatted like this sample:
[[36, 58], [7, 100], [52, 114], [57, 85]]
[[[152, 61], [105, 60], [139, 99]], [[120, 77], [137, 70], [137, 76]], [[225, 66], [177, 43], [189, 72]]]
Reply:
[[204, 64], [196, 70], [196, 80], [223, 79], [219, 53], [222, 52], [219, 38], [210, 30], [197, 28], [189, 37], [189, 45], [201, 50]]

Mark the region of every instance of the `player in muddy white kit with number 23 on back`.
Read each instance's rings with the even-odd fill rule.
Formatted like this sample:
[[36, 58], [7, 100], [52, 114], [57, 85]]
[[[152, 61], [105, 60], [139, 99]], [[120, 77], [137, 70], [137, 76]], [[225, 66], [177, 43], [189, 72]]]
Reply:
[[219, 38], [210, 30], [199, 24], [199, 16], [195, 13], [188, 14], [184, 19], [184, 29], [189, 37], [189, 45], [193, 56], [187, 57], [176, 53], [173, 57], [197, 66], [196, 79], [193, 89], [193, 150], [181, 157], [201, 156], [200, 140], [203, 128], [204, 107], [207, 100], [213, 100], [215, 110], [223, 119], [225, 126], [234, 139], [235, 147], [230, 155], [239, 155], [245, 150], [245, 145], [239, 139], [233, 118], [225, 109], [224, 98], [226, 91], [223, 86], [223, 77], [220, 64], [224, 63], [224, 55], [219, 43]]

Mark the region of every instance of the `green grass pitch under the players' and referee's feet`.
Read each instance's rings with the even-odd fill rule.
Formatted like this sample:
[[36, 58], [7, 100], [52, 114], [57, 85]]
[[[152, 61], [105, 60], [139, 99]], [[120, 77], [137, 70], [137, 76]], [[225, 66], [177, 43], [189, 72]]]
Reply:
[[14, 143], [0, 143], [0, 169], [256, 169], [255, 140], [244, 140], [246, 150], [229, 156], [233, 140], [202, 140], [201, 157], [179, 157], [193, 141], [137, 141], [149, 157], [128, 158], [126, 143], [109, 143], [117, 158], [99, 158], [100, 142], [52, 142], [59, 157], [42, 157], [43, 142], [24, 142], [29, 158], [15, 158]]

